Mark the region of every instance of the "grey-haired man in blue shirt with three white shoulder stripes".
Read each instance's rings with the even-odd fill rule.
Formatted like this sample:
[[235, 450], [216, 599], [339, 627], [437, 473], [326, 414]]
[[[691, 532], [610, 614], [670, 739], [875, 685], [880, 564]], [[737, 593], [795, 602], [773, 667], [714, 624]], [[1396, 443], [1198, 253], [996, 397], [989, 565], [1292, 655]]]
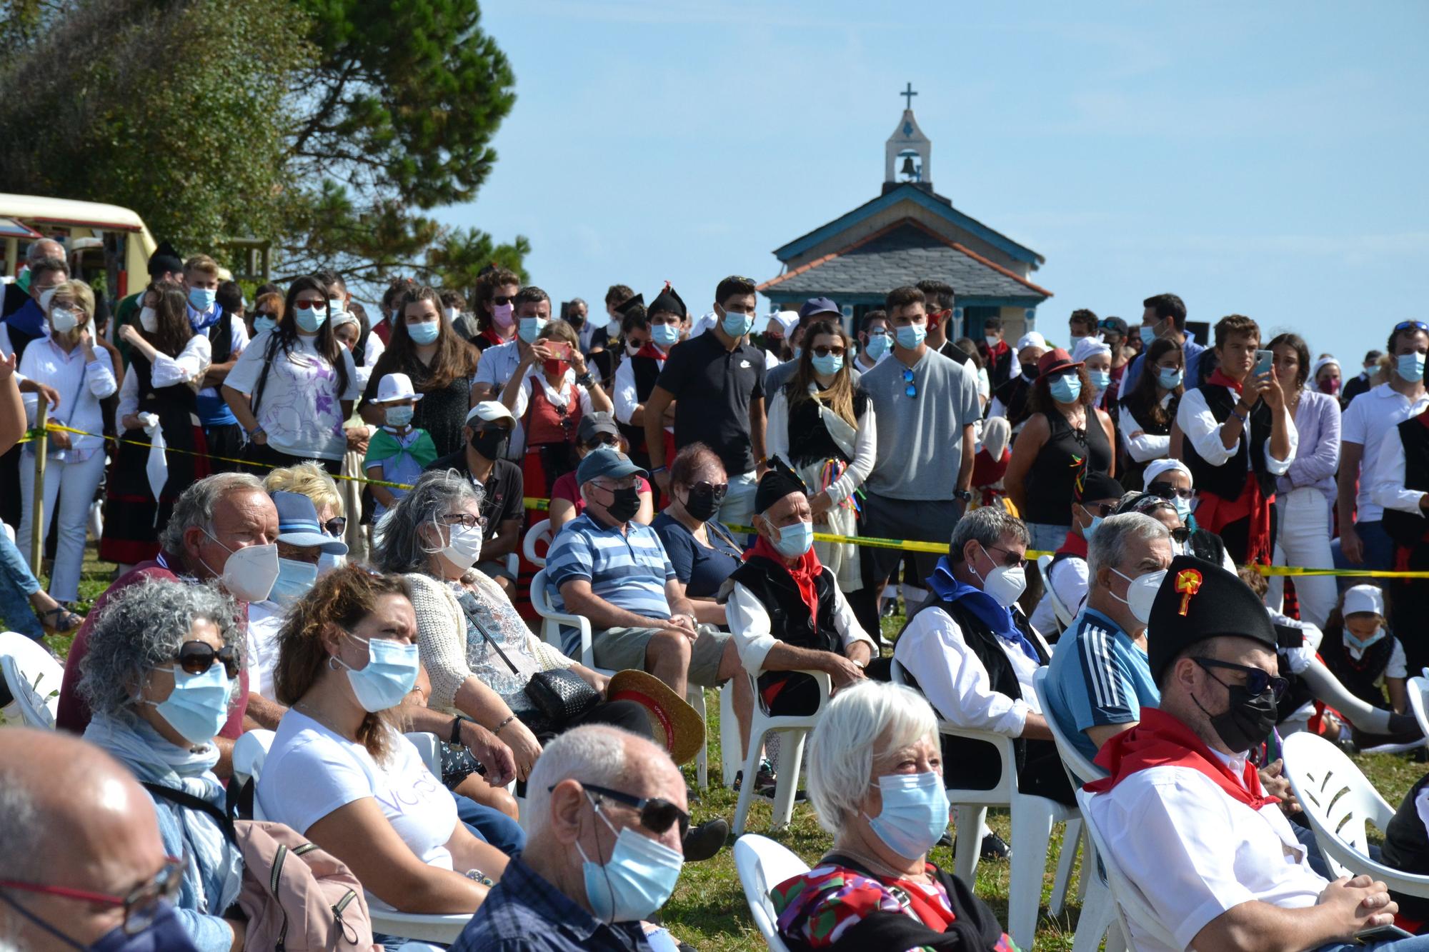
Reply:
[[1092, 590], [1046, 680], [1046, 713], [1087, 759], [1160, 699], [1146, 662], [1146, 619], [1169, 565], [1170, 532], [1139, 512], [1103, 520], [1087, 546]]

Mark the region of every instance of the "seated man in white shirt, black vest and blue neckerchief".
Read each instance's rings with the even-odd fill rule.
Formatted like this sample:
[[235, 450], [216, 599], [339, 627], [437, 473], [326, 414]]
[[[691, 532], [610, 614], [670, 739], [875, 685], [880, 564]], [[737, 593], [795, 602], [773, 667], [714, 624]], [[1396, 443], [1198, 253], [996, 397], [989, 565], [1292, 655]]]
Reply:
[[[932, 598], [903, 626], [893, 662], [953, 726], [1013, 738], [1017, 789], [1075, 803], [1032, 689], [1052, 652], [1017, 609], [1026, 552], [1027, 527], [1002, 506], [959, 519], [927, 580]], [[993, 788], [1002, 775], [997, 750], [982, 740], [943, 738], [943, 762], [957, 765], [957, 785], [969, 789]]]

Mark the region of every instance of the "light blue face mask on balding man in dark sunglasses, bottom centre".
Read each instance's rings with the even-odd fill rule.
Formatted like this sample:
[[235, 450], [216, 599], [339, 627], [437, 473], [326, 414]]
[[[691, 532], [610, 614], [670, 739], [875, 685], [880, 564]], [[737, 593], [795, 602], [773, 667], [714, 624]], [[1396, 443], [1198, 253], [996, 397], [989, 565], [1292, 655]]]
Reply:
[[[594, 800], [592, 808], [614, 833], [614, 825], [594, 806]], [[604, 866], [592, 862], [579, 842], [576, 849], [580, 852], [580, 872], [586, 881], [586, 901], [590, 912], [602, 922], [637, 922], [647, 918], [669, 902], [684, 865], [684, 856], [664, 843], [642, 836], [630, 826], [616, 833], [616, 848], [610, 851], [610, 862]]]

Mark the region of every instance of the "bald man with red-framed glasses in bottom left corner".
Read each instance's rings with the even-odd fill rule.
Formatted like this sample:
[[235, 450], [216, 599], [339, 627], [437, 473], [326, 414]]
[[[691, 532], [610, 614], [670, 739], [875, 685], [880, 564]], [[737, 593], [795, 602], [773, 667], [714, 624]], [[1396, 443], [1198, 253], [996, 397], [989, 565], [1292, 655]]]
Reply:
[[94, 745], [0, 730], [0, 946], [197, 952], [171, 905], [183, 862], [166, 855], [149, 793]]

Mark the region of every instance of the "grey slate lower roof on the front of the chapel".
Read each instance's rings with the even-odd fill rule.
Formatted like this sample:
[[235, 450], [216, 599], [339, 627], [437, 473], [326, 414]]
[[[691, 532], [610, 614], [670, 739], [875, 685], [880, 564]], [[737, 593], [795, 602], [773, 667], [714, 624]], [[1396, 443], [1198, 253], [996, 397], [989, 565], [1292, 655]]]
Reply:
[[759, 286], [780, 296], [885, 294], [892, 287], [926, 277], [946, 280], [959, 297], [1016, 297], [1045, 300], [1052, 292], [982, 254], [933, 233], [915, 219], [900, 219], [807, 264]]

